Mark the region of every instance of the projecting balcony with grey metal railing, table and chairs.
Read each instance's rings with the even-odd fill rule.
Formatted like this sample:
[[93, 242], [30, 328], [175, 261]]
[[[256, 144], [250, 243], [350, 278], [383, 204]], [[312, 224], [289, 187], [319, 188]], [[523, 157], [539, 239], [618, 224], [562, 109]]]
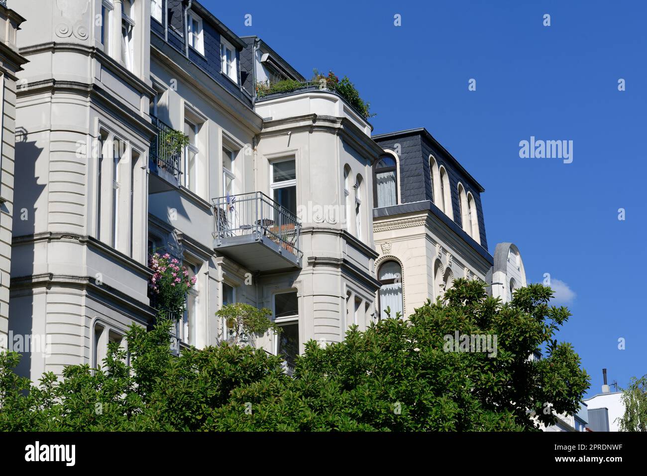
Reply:
[[252, 272], [301, 267], [301, 223], [262, 192], [219, 197], [214, 249]]

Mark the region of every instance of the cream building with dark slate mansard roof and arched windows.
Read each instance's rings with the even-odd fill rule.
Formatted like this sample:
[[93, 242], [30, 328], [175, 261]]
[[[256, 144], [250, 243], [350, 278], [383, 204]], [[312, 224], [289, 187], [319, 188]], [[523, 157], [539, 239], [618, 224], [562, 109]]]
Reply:
[[373, 166], [378, 315], [408, 317], [455, 278], [481, 280], [509, 302], [526, 286], [525, 269], [514, 244], [488, 253], [483, 187], [424, 128], [373, 140], [382, 148]]

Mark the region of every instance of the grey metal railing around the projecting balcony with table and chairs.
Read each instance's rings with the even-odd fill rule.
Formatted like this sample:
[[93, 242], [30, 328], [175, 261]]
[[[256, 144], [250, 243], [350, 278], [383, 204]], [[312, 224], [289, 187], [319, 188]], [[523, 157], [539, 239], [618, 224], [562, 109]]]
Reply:
[[300, 221], [263, 192], [214, 198], [213, 203], [216, 240], [247, 234], [267, 236], [285, 251], [302, 257]]

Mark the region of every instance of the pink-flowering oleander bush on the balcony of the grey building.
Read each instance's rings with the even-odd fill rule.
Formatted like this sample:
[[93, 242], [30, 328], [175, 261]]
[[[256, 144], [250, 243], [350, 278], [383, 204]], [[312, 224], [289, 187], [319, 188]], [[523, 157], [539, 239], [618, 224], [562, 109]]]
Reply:
[[179, 319], [184, 313], [186, 292], [195, 286], [195, 276], [190, 278], [186, 267], [168, 253], [153, 253], [149, 266], [153, 269], [153, 276], [148, 287], [155, 306]]

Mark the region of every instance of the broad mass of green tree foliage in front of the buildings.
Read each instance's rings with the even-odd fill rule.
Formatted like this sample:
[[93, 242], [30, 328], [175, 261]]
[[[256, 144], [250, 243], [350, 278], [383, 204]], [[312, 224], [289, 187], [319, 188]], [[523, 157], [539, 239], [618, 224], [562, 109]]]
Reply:
[[[384, 319], [342, 343], [314, 341], [287, 376], [280, 357], [223, 342], [170, 352], [170, 321], [133, 326], [126, 353], [104, 365], [65, 368], [39, 385], [17, 377], [17, 354], [0, 357], [0, 429], [38, 431], [521, 431], [545, 413], [577, 411], [589, 378], [555, 332], [569, 317], [532, 284], [510, 304], [483, 284], [456, 280], [445, 302], [408, 321]], [[446, 352], [446, 335], [496, 335], [496, 356]], [[547, 356], [532, 361], [536, 348]], [[27, 392], [28, 390], [28, 392]], [[533, 418], [536, 416], [536, 420]]]

